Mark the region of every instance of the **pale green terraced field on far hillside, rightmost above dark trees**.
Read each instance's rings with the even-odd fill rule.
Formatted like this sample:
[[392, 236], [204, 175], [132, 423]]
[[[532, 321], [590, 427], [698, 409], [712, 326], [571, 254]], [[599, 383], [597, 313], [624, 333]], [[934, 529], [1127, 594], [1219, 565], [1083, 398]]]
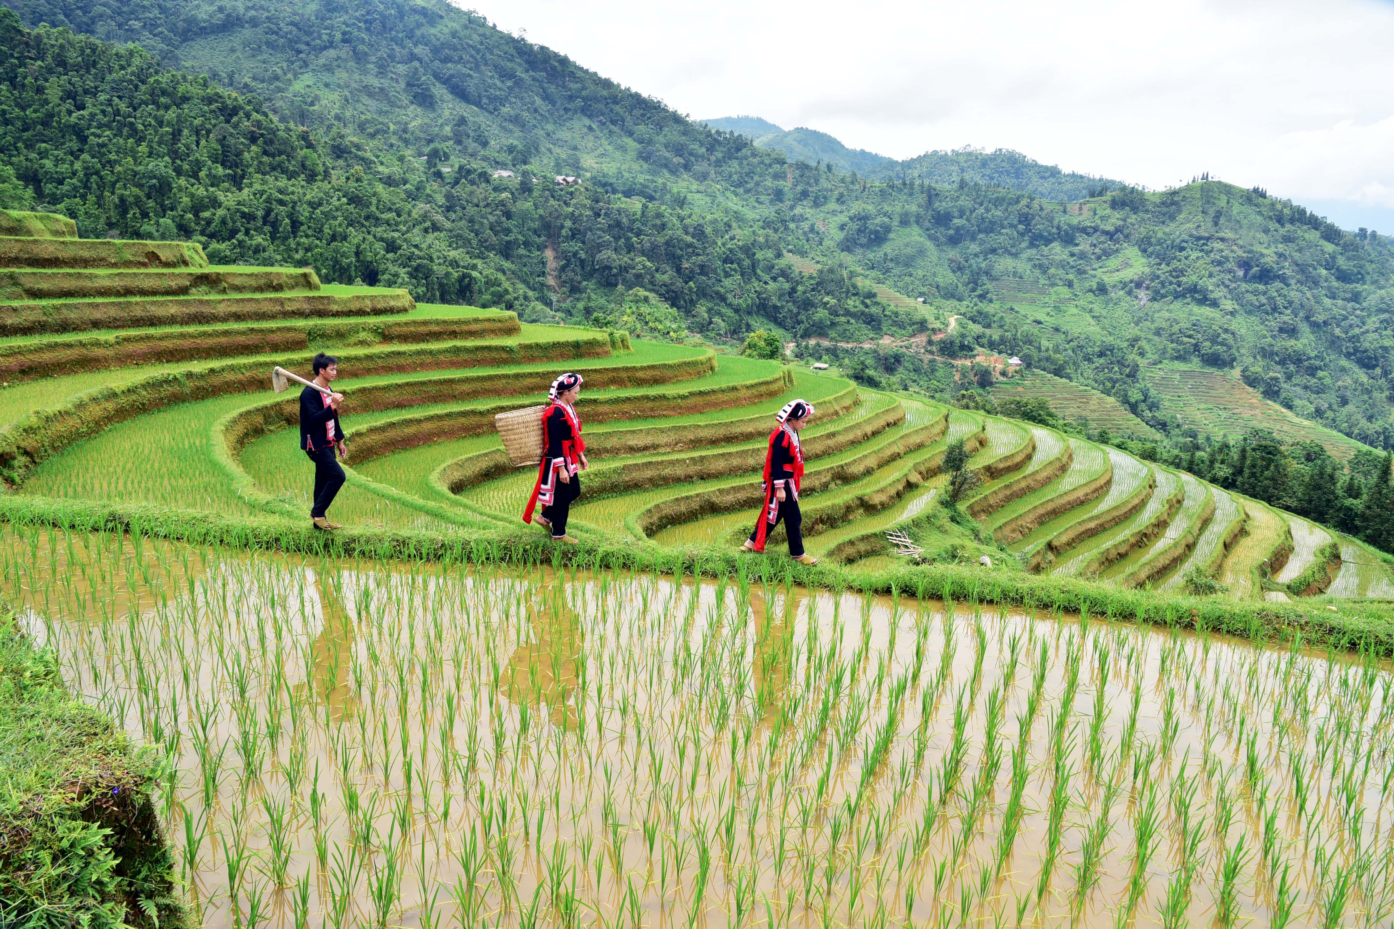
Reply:
[[1216, 437], [1236, 439], [1255, 428], [1267, 429], [1288, 442], [1316, 442], [1342, 461], [1365, 447], [1355, 439], [1294, 415], [1218, 370], [1143, 368], [1143, 375], [1163, 396], [1164, 412], [1175, 414], [1184, 426]]

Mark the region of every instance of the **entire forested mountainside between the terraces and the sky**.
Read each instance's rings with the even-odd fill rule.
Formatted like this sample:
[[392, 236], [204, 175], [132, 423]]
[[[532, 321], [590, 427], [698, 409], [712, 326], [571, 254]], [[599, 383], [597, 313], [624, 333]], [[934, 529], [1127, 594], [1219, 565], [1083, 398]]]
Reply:
[[28, 26], [212, 78], [0, 24], [0, 199], [85, 235], [191, 237], [215, 260], [737, 343], [861, 344], [953, 313], [933, 352], [849, 364], [947, 391], [931, 354], [1020, 354], [1178, 442], [1144, 372], [1207, 365], [1394, 447], [1388, 241], [1262, 191], [1144, 194], [1015, 152], [928, 153], [887, 181], [786, 162], [438, 0], [6, 1]]

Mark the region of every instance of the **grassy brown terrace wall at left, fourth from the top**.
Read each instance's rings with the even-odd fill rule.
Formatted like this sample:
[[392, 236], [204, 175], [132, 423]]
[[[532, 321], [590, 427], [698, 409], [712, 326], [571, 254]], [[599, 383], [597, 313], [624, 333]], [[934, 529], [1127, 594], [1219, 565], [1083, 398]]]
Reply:
[[276, 294], [252, 297], [137, 297], [0, 302], [0, 336], [78, 333], [92, 329], [198, 326], [273, 319], [407, 313], [415, 301], [404, 290], [375, 294]]

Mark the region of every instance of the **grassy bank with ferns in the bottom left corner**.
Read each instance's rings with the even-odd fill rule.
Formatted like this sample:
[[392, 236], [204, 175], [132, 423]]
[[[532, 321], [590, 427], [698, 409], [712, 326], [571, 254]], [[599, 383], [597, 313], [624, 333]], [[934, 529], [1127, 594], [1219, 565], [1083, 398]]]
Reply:
[[191, 925], [151, 801], [164, 770], [0, 613], [0, 925]]

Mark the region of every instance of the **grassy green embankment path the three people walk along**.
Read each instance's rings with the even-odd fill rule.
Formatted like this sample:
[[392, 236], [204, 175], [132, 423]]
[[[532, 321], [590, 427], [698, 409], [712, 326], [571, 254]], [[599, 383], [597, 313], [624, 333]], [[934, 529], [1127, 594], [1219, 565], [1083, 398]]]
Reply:
[[0, 520], [24, 531], [121, 532], [152, 539], [279, 550], [333, 557], [425, 561], [531, 563], [733, 577], [799, 584], [831, 591], [920, 595], [973, 603], [1087, 613], [1108, 620], [1199, 628], [1252, 642], [1294, 642], [1312, 648], [1394, 656], [1394, 604], [1381, 600], [1267, 603], [1135, 591], [1069, 577], [980, 570], [958, 564], [896, 565], [856, 571], [836, 564], [804, 567], [783, 556], [743, 556], [725, 547], [669, 549], [613, 535], [585, 535], [562, 549], [535, 529], [441, 533], [375, 526], [332, 535], [275, 517], [238, 518], [197, 510], [53, 497], [0, 497]]

